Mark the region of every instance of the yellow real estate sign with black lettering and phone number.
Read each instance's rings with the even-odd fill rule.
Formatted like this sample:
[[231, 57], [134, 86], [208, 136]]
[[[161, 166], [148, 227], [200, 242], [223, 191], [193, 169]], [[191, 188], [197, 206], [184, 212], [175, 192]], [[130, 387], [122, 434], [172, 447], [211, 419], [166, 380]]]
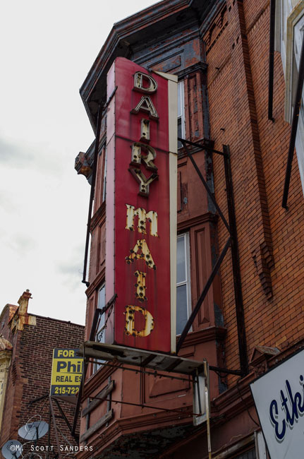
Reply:
[[75, 395], [83, 374], [78, 349], [54, 349], [51, 366], [51, 395]]

